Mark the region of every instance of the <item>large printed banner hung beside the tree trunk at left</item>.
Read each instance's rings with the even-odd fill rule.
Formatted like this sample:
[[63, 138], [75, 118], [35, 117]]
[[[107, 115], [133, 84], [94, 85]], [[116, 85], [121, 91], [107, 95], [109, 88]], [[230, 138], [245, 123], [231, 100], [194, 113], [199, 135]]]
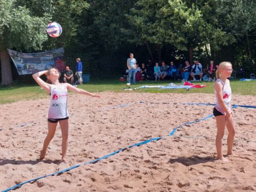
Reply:
[[61, 72], [65, 71], [63, 62], [63, 47], [52, 51], [40, 53], [21, 53], [7, 49], [19, 75], [34, 74], [38, 71], [57, 67]]

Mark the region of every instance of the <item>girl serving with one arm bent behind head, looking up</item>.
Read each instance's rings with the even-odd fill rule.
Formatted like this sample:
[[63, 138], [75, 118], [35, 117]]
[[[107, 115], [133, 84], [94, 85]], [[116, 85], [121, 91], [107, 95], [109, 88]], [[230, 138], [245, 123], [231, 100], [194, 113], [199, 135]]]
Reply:
[[[45, 83], [40, 76], [46, 75], [47, 83]], [[57, 124], [59, 122], [61, 135], [62, 135], [62, 162], [67, 163], [66, 153], [68, 148], [68, 108], [67, 108], [67, 97], [68, 90], [74, 91], [76, 93], [89, 95], [91, 97], [98, 97], [89, 93], [85, 90], [78, 89], [68, 83], [59, 83], [60, 73], [58, 69], [51, 68], [50, 70], [39, 71], [33, 74], [33, 78], [40, 85], [47, 94], [51, 95], [51, 105], [48, 113], [48, 134], [44, 139], [43, 149], [41, 150], [40, 159], [43, 159], [46, 155], [47, 147], [52, 140]]]

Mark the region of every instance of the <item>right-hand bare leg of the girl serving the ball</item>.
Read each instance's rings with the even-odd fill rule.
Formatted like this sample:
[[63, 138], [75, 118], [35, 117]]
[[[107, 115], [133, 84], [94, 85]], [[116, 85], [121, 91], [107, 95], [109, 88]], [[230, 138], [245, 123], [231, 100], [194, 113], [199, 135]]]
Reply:
[[60, 122], [60, 129], [62, 135], [62, 162], [67, 163], [66, 154], [68, 150], [68, 119], [61, 120]]

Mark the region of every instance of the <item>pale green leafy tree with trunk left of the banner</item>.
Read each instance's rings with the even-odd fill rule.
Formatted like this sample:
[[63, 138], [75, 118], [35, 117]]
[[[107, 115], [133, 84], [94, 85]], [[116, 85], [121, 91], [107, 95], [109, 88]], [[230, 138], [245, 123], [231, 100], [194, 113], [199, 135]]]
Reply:
[[[39, 1], [33, 1], [34, 4]], [[34, 13], [24, 2], [15, 0], [0, 0], [0, 54], [2, 85], [12, 83], [12, 73], [7, 48], [23, 47], [29, 49], [41, 49], [46, 41], [45, 25], [51, 19], [50, 13]], [[51, 0], [45, 1], [45, 10], [51, 7]], [[50, 6], [49, 6], [50, 5]], [[30, 7], [31, 8], [31, 7]], [[33, 7], [32, 7], [33, 8]], [[33, 12], [34, 11], [34, 12]]]

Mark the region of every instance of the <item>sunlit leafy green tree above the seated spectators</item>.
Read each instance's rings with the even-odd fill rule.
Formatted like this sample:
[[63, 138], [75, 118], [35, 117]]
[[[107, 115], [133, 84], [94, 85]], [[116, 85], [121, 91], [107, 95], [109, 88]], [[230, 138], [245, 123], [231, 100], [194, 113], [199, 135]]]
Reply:
[[158, 47], [158, 59], [163, 44], [168, 43], [187, 50], [192, 62], [193, 49], [202, 49], [209, 43], [217, 49], [228, 41], [225, 31], [215, 25], [214, 14], [206, 17], [203, 13], [210, 13], [216, 5], [214, 1], [139, 0], [127, 16], [135, 30], [127, 30], [127, 34], [134, 43]]

